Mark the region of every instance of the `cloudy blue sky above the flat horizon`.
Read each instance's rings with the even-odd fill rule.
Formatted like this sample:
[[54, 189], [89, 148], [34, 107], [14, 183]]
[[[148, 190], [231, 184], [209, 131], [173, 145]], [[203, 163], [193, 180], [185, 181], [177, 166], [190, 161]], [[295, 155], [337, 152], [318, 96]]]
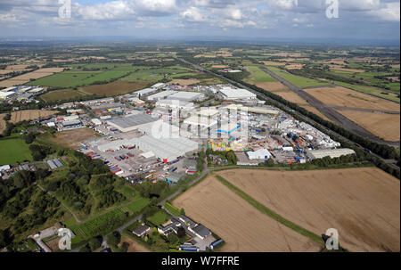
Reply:
[[0, 0], [0, 25], [0, 37], [399, 40], [400, 1]]

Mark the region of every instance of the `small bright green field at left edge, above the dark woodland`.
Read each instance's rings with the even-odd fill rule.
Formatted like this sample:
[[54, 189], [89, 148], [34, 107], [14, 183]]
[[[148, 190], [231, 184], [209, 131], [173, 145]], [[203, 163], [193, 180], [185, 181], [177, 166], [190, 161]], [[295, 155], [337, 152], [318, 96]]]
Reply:
[[0, 140], [0, 166], [10, 165], [24, 160], [32, 161], [29, 145], [20, 138]]

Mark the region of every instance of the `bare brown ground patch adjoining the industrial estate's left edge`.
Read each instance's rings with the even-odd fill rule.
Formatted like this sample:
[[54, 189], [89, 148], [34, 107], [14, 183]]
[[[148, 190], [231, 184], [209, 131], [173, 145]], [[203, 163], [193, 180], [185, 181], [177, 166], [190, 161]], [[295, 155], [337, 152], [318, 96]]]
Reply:
[[78, 128], [58, 132], [54, 136], [48, 136], [47, 139], [61, 146], [76, 149], [81, 147], [80, 143], [98, 136], [92, 129]]

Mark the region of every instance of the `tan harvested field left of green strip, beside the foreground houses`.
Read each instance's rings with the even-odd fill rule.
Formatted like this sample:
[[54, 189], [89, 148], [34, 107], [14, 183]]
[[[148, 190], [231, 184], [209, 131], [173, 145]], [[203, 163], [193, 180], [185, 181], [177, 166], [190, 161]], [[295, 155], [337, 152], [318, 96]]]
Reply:
[[222, 251], [319, 251], [315, 241], [279, 224], [208, 176], [184, 192], [173, 205], [209, 227], [224, 241]]

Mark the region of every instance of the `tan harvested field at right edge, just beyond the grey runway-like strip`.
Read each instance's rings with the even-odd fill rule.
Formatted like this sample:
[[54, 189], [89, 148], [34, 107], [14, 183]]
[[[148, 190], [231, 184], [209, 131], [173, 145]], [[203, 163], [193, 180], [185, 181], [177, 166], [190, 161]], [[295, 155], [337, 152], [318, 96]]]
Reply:
[[359, 93], [340, 86], [306, 89], [304, 91], [327, 105], [400, 111], [399, 104], [396, 102], [385, 101], [379, 97]]

